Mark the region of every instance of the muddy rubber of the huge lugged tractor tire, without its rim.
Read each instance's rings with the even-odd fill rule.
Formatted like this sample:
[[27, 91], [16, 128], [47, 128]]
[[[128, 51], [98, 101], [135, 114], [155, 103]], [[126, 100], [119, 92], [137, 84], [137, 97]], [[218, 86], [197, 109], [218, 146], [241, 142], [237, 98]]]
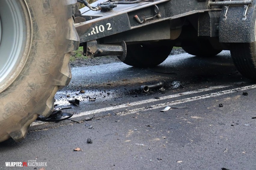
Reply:
[[0, 94], [0, 142], [24, 139], [39, 115], [52, 113], [55, 93], [71, 80], [70, 52], [79, 45], [72, 19], [76, 0], [24, 2], [32, 21], [32, 43], [21, 73]]

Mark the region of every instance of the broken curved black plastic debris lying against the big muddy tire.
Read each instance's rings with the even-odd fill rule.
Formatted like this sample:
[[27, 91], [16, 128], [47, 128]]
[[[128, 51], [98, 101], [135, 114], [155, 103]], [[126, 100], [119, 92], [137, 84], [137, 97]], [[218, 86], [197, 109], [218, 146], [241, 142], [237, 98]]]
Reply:
[[66, 113], [62, 112], [62, 110], [65, 109], [71, 109], [72, 107], [65, 107], [65, 108], [54, 108], [52, 114], [48, 117], [39, 116], [36, 120], [42, 121], [42, 122], [59, 122], [62, 120], [66, 120], [71, 118], [74, 113]]

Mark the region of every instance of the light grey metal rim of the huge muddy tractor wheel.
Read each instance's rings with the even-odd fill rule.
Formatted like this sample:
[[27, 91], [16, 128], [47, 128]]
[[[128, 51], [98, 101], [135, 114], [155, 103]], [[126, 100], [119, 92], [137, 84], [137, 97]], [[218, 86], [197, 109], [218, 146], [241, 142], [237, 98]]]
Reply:
[[0, 92], [23, 70], [31, 47], [32, 22], [25, 0], [0, 0]]

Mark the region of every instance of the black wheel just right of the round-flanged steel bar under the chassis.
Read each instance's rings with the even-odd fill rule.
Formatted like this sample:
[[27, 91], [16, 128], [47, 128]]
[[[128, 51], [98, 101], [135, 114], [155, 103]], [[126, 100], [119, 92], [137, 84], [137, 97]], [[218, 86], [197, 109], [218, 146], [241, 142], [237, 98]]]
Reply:
[[130, 44], [123, 63], [140, 68], [157, 66], [170, 55], [172, 47], [151, 44]]

